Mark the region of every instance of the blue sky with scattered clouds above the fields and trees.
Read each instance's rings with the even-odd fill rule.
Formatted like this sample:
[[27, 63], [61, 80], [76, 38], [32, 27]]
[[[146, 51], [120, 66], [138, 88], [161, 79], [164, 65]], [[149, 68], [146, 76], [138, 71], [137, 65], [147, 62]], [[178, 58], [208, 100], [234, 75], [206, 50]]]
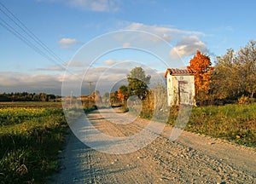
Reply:
[[[249, 40], [256, 39], [256, 3], [253, 0], [2, 0], [1, 3], [61, 60], [44, 58], [0, 25], [0, 93], [42, 91], [60, 95], [63, 80], [71, 83], [78, 80], [74, 73], [84, 76], [81, 80], [95, 81], [95, 85], [99, 82], [96, 76], [104, 73], [108, 79], [105, 85], [113, 86], [134, 66], [148, 66], [148, 72], [153, 70], [155, 75], [165, 72], [162, 60], [147, 52], [139, 54], [136, 49], [127, 49], [137, 47], [140, 41], [143, 48], [150, 45], [157, 53], [156, 50], [165, 50], [161, 43], [153, 39], [148, 42], [143, 36], [139, 39], [133, 37], [136, 42], [132, 45], [132, 36], [122, 37], [123, 49], [98, 55], [91, 66], [92, 60], [87, 60], [86, 56], [74, 60], [79, 52], [90, 52], [83, 45], [94, 42], [91, 40], [96, 39], [97, 44], [102, 45], [112, 44], [111, 39], [102, 39], [102, 35], [108, 32], [134, 30], [155, 34], [170, 44], [170, 50], [163, 55], [182, 61], [183, 65], [189, 64], [197, 49], [210, 55], [214, 62], [215, 56], [224, 55], [226, 49], [237, 50]], [[7, 13], [3, 5], [0, 4], [0, 9]], [[0, 23], [7, 22], [15, 31], [25, 35], [3, 11], [0, 11]], [[95, 49], [99, 47], [94, 46]], [[180, 57], [175, 59], [175, 55]], [[119, 65], [127, 61], [139, 63]], [[181, 63], [172, 64], [167, 66], [183, 66]], [[67, 67], [72, 72], [67, 72]], [[87, 69], [91, 72], [84, 73]], [[63, 77], [65, 72], [66, 78]], [[152, 71], [147, 74], [154, 76]], [[83, 85], [86, 93], [86, 84]]]

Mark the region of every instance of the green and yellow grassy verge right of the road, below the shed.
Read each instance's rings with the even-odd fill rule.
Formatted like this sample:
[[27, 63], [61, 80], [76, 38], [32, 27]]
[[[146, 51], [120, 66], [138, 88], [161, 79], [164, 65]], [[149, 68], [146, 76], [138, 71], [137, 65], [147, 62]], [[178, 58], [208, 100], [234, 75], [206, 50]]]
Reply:
[[194, 107], [186, 129], [256, 147], [256, 103]]

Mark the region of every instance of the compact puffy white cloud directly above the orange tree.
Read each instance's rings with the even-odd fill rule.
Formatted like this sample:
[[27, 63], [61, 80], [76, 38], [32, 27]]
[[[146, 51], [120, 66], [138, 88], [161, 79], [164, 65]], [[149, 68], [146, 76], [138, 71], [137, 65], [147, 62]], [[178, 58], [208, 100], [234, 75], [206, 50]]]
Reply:
[[207, 52], [207, 45], [199, 37], [183, 37], [170, 51], [172, 58], [195, 55], [196, 50]]

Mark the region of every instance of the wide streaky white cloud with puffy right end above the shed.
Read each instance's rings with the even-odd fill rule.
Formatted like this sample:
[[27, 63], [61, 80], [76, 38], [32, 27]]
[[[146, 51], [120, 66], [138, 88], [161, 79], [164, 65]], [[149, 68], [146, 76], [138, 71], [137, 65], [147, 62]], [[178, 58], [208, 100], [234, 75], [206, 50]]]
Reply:
[[[172, 49], [170, 50], [172, 59], [194, 55], [197, 49], [201, 52], [208, 51], [206, 43], [201, 40], [201, 37], [206, 37], [204, 32], [181, 30], [172, 26], [148, 26], [136, 22], [120, 22], [120, 25], [128, 30], [155, 34], [156, 36], [166, 40], [167, 43], [171, 43], [171, 45], [173, 45]], [[139, 40], [142, 43], [160, 43], [161, 39], [158, 37], [143, 37], [142, 34], [142, 37], [139, 37]], [[124, 37], [121, 38], [124, 39]], [[137, 37], [134, 38], [132, 35], [126, 39], [131, 42], [135, 39], [138, 40]]]

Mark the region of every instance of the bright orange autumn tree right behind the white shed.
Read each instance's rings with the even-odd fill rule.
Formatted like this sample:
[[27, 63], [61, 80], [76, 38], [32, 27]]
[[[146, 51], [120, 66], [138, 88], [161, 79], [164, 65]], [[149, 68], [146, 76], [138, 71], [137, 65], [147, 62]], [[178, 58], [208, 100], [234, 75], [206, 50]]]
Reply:
[[210, 83], [212, 82], [212, 62], [210, 57], [201, 54], [197, 50], [196, 55], [189, 62], [188, 69], [195, 70], [195, 99], [198, 103], [203, 104], [208, 99]]

